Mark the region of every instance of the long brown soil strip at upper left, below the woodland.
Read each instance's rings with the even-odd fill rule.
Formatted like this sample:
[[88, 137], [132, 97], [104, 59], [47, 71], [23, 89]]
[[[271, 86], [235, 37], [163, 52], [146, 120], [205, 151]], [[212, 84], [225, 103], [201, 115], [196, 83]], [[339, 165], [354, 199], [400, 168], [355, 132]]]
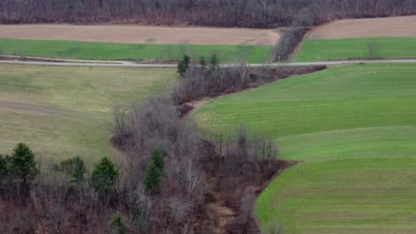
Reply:
[[0, 25], [0, 38], [68, 40], [100, 43], [274, 45], [275, 30], [214, 27]]

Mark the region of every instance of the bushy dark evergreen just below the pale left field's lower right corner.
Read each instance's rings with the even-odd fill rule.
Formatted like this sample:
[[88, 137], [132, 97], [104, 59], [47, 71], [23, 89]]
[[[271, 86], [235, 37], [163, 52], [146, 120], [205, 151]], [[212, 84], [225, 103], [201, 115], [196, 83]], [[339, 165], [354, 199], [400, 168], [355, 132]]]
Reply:
[[92, 170], [91, 185], [95, 191], [100, 193], [100, 197], [114, 191], [119, 172], [116, 164], [104, 157]]

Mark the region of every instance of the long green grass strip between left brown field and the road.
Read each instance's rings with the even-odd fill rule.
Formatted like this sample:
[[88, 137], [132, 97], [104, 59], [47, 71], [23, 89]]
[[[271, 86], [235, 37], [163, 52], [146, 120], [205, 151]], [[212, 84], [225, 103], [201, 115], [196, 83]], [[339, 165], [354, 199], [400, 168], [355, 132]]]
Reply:
[[46, 58], [177, 60], [186, 52], [193, 58], [218, 53], [221, 62], [268, 62], [270, 47], [251, 45], [175, 45], [87, 43], [75, 41], [0, 39], [3, 54]]

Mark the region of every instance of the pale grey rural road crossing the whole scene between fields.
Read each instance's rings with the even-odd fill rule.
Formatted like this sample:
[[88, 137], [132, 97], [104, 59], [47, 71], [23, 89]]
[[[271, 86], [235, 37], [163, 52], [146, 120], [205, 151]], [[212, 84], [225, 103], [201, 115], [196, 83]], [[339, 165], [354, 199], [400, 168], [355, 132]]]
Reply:
[[[249, 64], [252, 67], [259, 66], [330, 66], [342, 64], [373, 64], [373, 63], [416, 63], [416, 59], [384, 59], [384, 60], [343, 60], [343, 61], [322, 61], [322, 62], [300, 62], [300, 63], [270, 63], [270, 64]], [[19, 61], [0, 60], [0, 64], [37, 65], [37, 66], [100, 66], [100, 67], [176, 67], [176, 64], [136, 64], [127, 61], [119, 63], [88, 63], [88, 62], [42, 62], [42, 61]], [[232, 67], [234, 64], [222, 64], [221, 67]]]

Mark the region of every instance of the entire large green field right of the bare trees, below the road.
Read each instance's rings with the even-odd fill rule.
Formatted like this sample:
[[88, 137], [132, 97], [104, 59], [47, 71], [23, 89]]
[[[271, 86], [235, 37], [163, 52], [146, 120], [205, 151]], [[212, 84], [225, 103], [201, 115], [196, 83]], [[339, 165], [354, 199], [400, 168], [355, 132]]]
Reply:
[[303, 161], [260, 196], [262, 225], [416, 231], [416, 66], [334, 66], [214, 99], [193, 116], [207, 136], [244, 124], [272, 137], [284, 160]]

